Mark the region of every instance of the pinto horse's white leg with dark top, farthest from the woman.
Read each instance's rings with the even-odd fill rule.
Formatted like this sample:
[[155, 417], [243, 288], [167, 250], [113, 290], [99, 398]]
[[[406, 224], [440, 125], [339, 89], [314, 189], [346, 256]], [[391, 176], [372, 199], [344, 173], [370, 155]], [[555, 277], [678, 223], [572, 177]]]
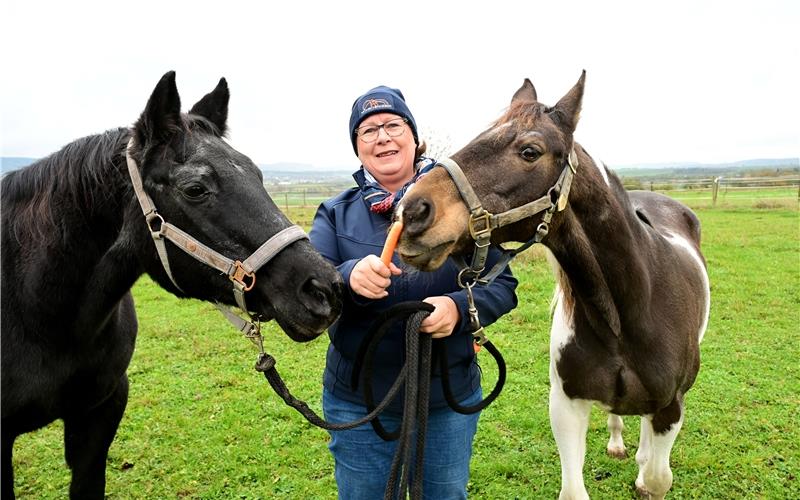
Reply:
[[[675, 444], [675, 438], [678, 437], [678, 432], [683, 425], [683, 408], [681, 406], [676, 399], [661, 412], [652, 416], [642, 416], [641, 442], [646, 444], [646, 451], [640, 459], [639, 453], [645, 449], [645, 446], [640, 444], [639, 451], [636, 453], [636, 462], [639, 464], [636, 491], [645, 498], [663, 499], [672, 486], [669, 456], [672, 452], [672, 445]], [[668, 415], [666, 420], [665, 414]], [[674, 421], [670, 422], [671, 420]]]

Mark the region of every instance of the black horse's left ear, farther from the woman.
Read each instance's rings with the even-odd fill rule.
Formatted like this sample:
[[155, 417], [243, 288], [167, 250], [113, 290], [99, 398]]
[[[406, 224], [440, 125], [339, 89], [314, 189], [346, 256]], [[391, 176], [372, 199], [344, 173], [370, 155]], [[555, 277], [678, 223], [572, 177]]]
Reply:
[[149, 142], [162, 143], [182, 129], [181, 98], [175, 85], [175, 72], [161, 77], [142, 115], [136, 122], [136, 139], [140, 146]]

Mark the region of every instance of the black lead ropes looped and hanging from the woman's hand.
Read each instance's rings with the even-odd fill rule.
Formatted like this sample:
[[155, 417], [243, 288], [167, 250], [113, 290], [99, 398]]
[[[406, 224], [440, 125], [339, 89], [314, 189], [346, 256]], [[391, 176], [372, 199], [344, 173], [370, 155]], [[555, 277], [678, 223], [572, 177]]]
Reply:
[[[411, 498], [422, 498], [422, 479], [425, 452], [425, 434], [428, 426], [428, 405], [430, 400], [431, 383], [431, 364], [432, 346], [435, 346], [436, 356], [440, 361], [440, 371], [442, 372], [442, 389], [448, 405], [456, 412], [471, 414], [483, 410], [494, 401], [503, 389], [506, 380], [506, 364], [500, 352], [495, 348], [491, 341], [486, 341], [483, 345], [492, 354], [498, 366], [498, 379], [492, 392], [473, 406], [461, 406], [453, 396], [450, 387], [450, 377], [447, 361], [447, 350], [443, 341], [432, 342], [430, 335], [420, 335], [419, 328], [422, 321], [433, 312], [434, 307], [427, 302], [409, 301], [396, 304], [383, 311], [373, 322], [367, 335], [359, 346], [356, 356], [356, 363], [353, 367], [351, 384], [354, 389], [358, 387], [361, 373], [361, 366], [364, 366], [364, 399], [368, 414], [358, 420], [344, 423], [331, 423], [322, 419], [319, 415], [306, 404], [295, 398], [286, 387], [278, 371], [275, 369], [275, 358], [269, 354], [262, 353], [256, 362], [256, 370], [264, 373], [264, 377], [269, 382], [272, 389], [281, 399], [292, 408], [300, 412], [310, 423], [327, 430], [347, 430], [358, 427], [366, 422], [371, 422], [375, 432], [385, 441], [392, 441], [400, 438], [397, 450], [392, 458], [392, 467], [389, 480], [386, 484], [384, 499], [406, 498], [410, 494]], [[375, 351], [377, 346], [391, 325], [402, 318], [406, 321], [405, 336], [405, 355], [406, 362], [394, 381], [383, 400], [375, 405], [372, 395], [372, 373], [374, 365]], [[397, 396], [400, 387], [405, 382], [403, 419], [400, 428], [388, 432], [381, 425], [378, 415]], [[412, 439], [416, 435], [415, 463], [413, 476], [410, 473], [409, 464], [412, 458]], [[409, 481], [413, 484], [410, 486]], [[399, 482], [398, 482], [399, 480]]]

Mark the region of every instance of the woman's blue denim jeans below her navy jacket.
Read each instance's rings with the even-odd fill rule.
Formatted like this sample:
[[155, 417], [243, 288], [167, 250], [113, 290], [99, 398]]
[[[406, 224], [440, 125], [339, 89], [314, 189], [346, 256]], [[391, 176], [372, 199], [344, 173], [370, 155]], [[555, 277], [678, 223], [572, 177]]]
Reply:
[[[481, 397], [481, 390], [478, 389], [460, 403], [462, 406], [471, 406], [477, 404]], [[322, 393], [322, 409], [325, 419], [335, 423], [350, 422], [367, 413], [364, 406], [337, 398], [328, 390]], [[425, 440], [423, 498], [467, 498], [469, 460], [479, 414], [461, 415], [450, 408], [431, 411]], [[394, 431], [399, 428], [401, 416], [384, 414], [380, 420], [386, 430]], [[382, 440], [369, 423], [347, 431], [332, 431], [330, 434], [328, 448], [335, 462], [339, 499], [383, 498], [397, 441]]]

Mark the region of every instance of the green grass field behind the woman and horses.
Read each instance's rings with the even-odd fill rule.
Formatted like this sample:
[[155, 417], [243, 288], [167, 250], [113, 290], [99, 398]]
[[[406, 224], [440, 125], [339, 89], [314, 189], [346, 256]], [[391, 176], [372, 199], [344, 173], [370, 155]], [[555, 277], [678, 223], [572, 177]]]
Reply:
[[[792, 205], [792, 203], [794, 203]], [[691, 204], [691, 203], [690, 203]], [[310, 223], [313, 208], [303, 212]], [[669, 498], [800, 498], [800, 217], [784, 208], [698, 210], [712, 287], [702, 366], [672, 452]], [[520, 306], [488, 329], [508, 381], [481, 416], [472, 498], [556, 498], [550, 434], [548, 308], [541, 253], [515, 262]], [[213, 306], [179, 301], [147, 278], [134, 295], [140, 332], [128, 409], [108, 461], [109, 498], [335, 498], [325, 431], [284, 406], [253, 370], [256, 352]], [[294, 344], [274, 324], [267, 349], [296, 396], [319, 411], [325, 338]], [[494, 382], [485, 354], [485, 386]], [[584, 476], [593, 498], [634, 498], [638, 419], [625, 417], [627, 460], [606, 457], [593, 412]], [[63, 427], [15, 446], [20, 498], [65, 498]]]

